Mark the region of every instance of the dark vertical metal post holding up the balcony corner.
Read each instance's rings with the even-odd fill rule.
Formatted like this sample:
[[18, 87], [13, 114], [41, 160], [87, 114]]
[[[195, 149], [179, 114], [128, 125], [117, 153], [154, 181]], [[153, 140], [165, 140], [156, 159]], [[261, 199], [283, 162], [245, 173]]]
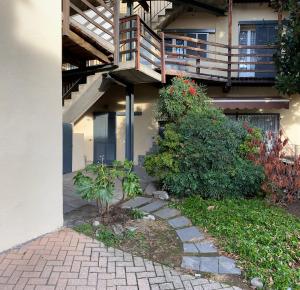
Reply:
[[125, 138], [125, 158], [134, 159], [134, 94], [133, 87], [126, 87], [126, 138]]

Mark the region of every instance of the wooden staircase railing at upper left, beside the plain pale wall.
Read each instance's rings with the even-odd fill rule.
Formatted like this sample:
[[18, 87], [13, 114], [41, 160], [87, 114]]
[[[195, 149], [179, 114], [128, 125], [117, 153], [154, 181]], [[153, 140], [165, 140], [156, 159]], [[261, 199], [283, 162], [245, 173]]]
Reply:
[[[97, 3], [95, 5], [94, 3]], [[103, 0], [63, 0], [63, 35], [81, 32], [103, 46], [103, 41], [113, 48], [119, 43], [120, 1]], [[119, 52], [114, 49], [114, 62], [118, 64]]]

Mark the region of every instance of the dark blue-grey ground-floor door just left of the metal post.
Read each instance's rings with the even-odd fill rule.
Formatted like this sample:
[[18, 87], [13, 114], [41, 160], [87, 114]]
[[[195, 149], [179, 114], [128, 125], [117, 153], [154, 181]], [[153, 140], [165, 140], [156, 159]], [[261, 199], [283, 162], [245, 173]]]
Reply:
[[111, 164], [116, 159], [116, 113], [94, 115], [94, 162]]

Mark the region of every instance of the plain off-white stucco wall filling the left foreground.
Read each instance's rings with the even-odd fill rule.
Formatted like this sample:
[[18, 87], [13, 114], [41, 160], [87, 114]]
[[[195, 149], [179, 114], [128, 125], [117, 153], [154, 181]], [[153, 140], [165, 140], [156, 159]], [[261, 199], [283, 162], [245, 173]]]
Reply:
[[0, 252], [62, 215], [61, 1], [0, 1]]

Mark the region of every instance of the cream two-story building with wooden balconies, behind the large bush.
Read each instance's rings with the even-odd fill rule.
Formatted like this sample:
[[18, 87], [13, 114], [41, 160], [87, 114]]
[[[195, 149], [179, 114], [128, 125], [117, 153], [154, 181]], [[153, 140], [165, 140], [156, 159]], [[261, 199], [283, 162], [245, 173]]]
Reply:
[[[97, 53], [103, 42], [106, 48], [101, 52], [105, 57], [90, 50], [84, 59], [98, 59], [100, 65], [63, 72], [75, 90], [80, 83], [73, 93], [65, 83], [69, 90], [64, 122], [73, 128], [66, 172], [102, 157], [105, 162], [127, 158], [141, 164], [158, 132], [153, 110], [159, 89], [175, 75], [205, 84], [215, 105], [230, 118], [247, 120], [264, 131], [282, 128], [291, 143], [300, 144], [300, 97], [287, 98], [274, 89], [273, 54], [278, 22], [285, 15], [274, 11], [269, 1], [127, 2], [117, 8], [119, 17], [96, 2], [65, 1], [70, 5], [65, 61], [76, 65], [67, 53], [75, 33]], [[119, 27], [113, 22], [117, 18]], [[86, 83], [79, 80], [84, 70], [89, 74]], [[92, 79], [101, 83], [100, 93], [89, 89]], [[80, 105], [89, 90], [91, 102]]]

